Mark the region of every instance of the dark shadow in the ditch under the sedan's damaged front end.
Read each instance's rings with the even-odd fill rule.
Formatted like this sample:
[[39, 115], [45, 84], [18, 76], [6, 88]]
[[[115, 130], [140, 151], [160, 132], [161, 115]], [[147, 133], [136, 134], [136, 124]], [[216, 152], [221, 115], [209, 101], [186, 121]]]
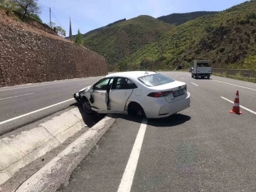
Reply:
[[78, 103], [74, 103], [71, 106], [75, 106], [78, 107], [78, 110], [80, 112], [80, 114], [82, 115], [82, 119], [85, 122], [85, 124], [87, 125], [87, 127], [91, 128], [92, 126], [94, 126], [95, 124], [97, 124], [97, 122], [100, 122], [100, 120], [105, 117], [105, 114], [86, 114], [83, 110], [82, 107], [78, 104]]

